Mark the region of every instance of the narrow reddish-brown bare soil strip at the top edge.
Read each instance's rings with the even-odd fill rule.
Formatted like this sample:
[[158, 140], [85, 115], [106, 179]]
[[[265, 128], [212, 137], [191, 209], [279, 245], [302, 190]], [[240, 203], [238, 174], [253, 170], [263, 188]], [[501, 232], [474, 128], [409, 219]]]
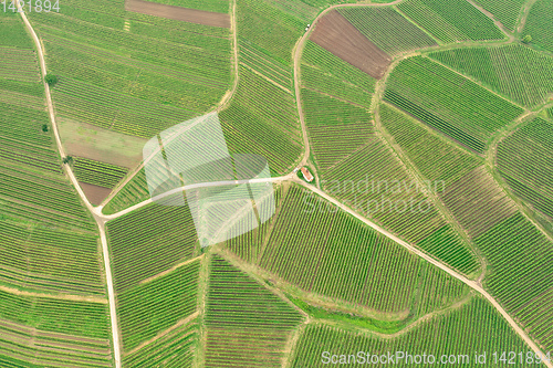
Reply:
[[211, 11], [165, 6], [144, 0], [125, 0], [125, 10], [184, 22], [230, 28], [229, 14], [215, 13]]

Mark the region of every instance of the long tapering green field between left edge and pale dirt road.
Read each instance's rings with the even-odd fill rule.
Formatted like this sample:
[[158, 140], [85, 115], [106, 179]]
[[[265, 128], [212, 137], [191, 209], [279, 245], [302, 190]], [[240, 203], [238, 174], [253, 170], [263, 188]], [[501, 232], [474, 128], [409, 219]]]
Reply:
[[53, 148], [35, 52], [21, 20], [0, 14], [9, 29], [0, 39], [1, 283], [102, 296], [95, 225]]

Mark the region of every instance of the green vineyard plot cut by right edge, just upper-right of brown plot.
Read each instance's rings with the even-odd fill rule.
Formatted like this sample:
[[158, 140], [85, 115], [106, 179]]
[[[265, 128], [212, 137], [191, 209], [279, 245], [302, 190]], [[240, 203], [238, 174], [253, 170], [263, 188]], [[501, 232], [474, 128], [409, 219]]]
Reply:
[[498, 146], [498, 169], [511, 189], [553, 218], [553, 124], [535, 118]]

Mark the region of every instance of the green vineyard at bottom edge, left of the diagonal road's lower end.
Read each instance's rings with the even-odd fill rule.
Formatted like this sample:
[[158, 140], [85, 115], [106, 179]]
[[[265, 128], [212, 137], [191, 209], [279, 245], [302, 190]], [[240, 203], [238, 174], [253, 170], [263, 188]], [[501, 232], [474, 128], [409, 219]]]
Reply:
[[[455, 339], [451, 336], [456, 336]], [[493, 336], [493, 338], [490, 338]], [[444, 314], [421, 322], [413, 329], [394, 338], [380, 338], [371, 333], [348, 332], [323, 323], [310, 324], [303, 332], [294, 354], [293, 367], [327, 367], [322, 360], [323, 351], [331, 355], [356, 355], [366, 351], [369, 355], [386, 355], [387, 351], [408, 351], [408, 354], [432, 354], [440, 359], [442, 354], [455, 356], [469, 355], [466, 367], [480, 367], [474, 362], [474, 354], [481, 351], [521, 351], [528, 347], [486, 301], [473, 297], [469, 303], [453, 307]], [[499, 356], [498, 356], [499, 358]], [[525, 358], [525, 356], [524, 356]], [[487, 361], [493, 359], [488, 353]], [[347, 360], [345, 360], [347, 361]], [[397, 361], [396, 361], [397, 364]], [[361, 365], [357, 361], [357, 365]], [[408, 366], [405, 360], [399, 366]], [[351, 365], [354, 366], [354, 360]], [[503, 367], [503, 365], [500, 365]], [[524, 361], [518, 367], [532, 367]], [[507, 365], [504, 366], [507, 367]]]

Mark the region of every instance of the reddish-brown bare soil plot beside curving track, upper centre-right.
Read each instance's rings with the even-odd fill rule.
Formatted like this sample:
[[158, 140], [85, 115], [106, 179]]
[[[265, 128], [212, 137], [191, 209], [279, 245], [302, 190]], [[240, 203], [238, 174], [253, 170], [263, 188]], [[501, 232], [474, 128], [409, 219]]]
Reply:
[[335, 10], [317, 22], [310, 40], [377, 80], [392, 62], [387, 53]]

